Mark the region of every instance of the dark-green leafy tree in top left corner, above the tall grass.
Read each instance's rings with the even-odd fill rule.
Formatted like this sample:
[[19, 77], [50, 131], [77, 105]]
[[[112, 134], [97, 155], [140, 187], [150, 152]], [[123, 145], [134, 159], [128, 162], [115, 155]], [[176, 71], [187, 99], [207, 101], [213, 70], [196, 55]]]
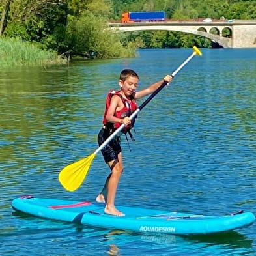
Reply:
[[[66, 25], [64, 0], [10, 0], [5, 35], [38, 42], [41, 47], [51, 48], [58, 27]], [[51, 40], [50, 40], [51, 38]], [[47, 42], [50, 44], [48, 46]]]

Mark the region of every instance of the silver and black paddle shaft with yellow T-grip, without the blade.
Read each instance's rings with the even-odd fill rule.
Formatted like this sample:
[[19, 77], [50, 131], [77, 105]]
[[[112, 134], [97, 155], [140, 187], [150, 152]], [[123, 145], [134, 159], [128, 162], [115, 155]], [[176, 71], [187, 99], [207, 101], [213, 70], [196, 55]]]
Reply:
[[[193, 53], [192, 55], [190, 55], [190, 57], [188, 57], [182, 64], [180, 64], [180, 66], [177, 68], [177, 70], [175, 70], [171, 76], [174, 77], [195, 55], [202, 55], [201, 51], [196, 47], [193, 46]], [[147, 98], [147, 100], [145, 100], [145, 102], [143, 102], [143, 104], [141, 104], [141, 106], [139, 106], [134, 113], [132, 113], [132, 115], [130, 115], [130, 119], [134, 119], [134, 117], [136, 117], [136, 115], [139, 113], [139, 111], [141, 111], [141, 109], [143, 109], [143, 107], [145, 107], [150, 100], [152, 100], [152, 98], [154, 98], [154, 96], [156, 96], [156, 94], [158, 94], [158, 92], [160, 92], [165, 85], [167, 85], [167, 81], [164, 81], [162, 83], [162, 85], [160, 85], [160, 87], [158, 87], [158, 89], [156, 89], [156, 91], [154, 91], [149, 98]], [[94, 154], [97, 154], [100, 150], [102, 150], [104, 147], [106, 147], [106, 145], [117, 135], [119, 134], [119, 132], [122, 131], [122, 129], [124, 128], [125, 124], [122, 124], [121, 126], [119, 126], [119, 128], [117, 128], [117, 130], [115, 130], [115, 132], [113, 132], [113, 134], [111, 134], [106, 141], [104, 141], [104, 143], [102, 143], [102, 145], [100, 145], [100, 147], [98, 147], [98, 149], [96, 149], [94, 151]]]

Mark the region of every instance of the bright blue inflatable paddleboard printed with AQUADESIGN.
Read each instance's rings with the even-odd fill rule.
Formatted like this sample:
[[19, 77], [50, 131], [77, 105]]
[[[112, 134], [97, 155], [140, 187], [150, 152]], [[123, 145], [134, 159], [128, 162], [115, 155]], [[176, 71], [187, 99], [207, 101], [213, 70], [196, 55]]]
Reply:
[[252, 212], [237, 212], [225, 216], [205, 216], [166, 210], [117, 206], [125, 216], [104, 213], [104, 204], [89, 201], [22, 196], [12, 201], [12, 208], [40, 218], [81, 223], [106, 229], [120, 229], [142, 233], [176, 235], [208, 234], [240, 229], [255, 221]]

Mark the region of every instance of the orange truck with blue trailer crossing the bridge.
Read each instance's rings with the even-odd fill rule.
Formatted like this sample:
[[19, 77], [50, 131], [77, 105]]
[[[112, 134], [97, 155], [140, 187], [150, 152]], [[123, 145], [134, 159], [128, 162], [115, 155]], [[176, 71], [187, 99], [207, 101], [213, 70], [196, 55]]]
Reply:
[[165, 21], [165, 12], [125, 12], [122, 23]]

